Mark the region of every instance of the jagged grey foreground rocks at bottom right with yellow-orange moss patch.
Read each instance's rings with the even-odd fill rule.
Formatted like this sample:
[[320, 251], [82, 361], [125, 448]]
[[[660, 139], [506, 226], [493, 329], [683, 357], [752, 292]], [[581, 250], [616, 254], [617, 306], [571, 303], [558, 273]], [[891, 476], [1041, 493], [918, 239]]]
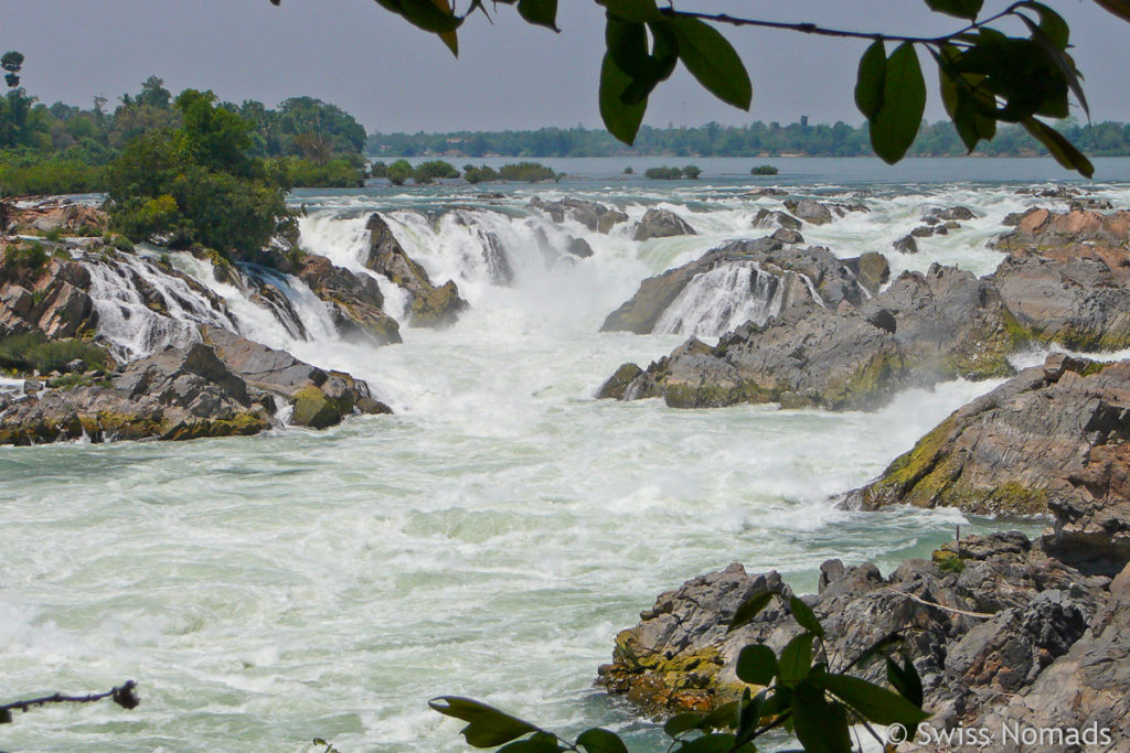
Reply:
[[[820, 571], [819, 593], [802, 599], [824, 627], [832, 668], [898, 634], [922, 677], [935, 728], [1012, 713], [1014, 704], [1027, 721], [1023, 708], [1045, 695], [1063, 701], [1052, 707], [1054, 718], [1069, 723], [1063, 726], [1081, 726], [1125, 676], [1115, 667], [1128, 666], [1130, 649], [1111, 631], [1121, 622], [1125, 587], [1059, 562], [1022, 534], [971, 536], [888, 577], [869, 562], [829, 560]], [[600, 668], [598, 682], [659, 713], [705, 711], [736, 699], [745, 688], [734, 671], [740, 649], [759, 642], [780, 653], [801, 630], [780, 599], [727, 632], [737, 606], [765, 590], [792, 595], [775, 571], [750, 576], [740, 564], [660, 595], [635, 628], [616, 637], [612, 663]], [[1086, 667], [1076, 658], [1099, 647], [1114, 666]], [[853, 672], [886, 684], [881, 662]], [[1072, 698], [1088, 702], [1072, 707]], [[1123, 737], [1130, 732], [1124, 717], [1102, 718]]]

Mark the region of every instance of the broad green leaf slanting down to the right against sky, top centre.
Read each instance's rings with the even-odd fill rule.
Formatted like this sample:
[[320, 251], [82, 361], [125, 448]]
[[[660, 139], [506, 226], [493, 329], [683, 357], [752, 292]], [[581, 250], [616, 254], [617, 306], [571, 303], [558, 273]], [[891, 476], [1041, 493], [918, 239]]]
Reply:
[[690, 75], [727, 104], [749, 110], [754, 87], [741, 58], [710, 24], [676, 16], [668, 24], [679, 41], [679, 59]]

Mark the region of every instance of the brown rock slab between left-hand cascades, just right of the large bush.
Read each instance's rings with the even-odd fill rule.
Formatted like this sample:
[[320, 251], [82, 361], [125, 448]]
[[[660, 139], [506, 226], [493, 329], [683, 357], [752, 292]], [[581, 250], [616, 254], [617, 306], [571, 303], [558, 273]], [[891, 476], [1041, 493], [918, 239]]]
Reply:
[[334, 266], [324, 256], [302, 257], [298, 279], [330, 308], [338, 331], [347, 339], [388, 344], [400, 342], [400, 325], [381, 310], [384, 296], [371, 277]]

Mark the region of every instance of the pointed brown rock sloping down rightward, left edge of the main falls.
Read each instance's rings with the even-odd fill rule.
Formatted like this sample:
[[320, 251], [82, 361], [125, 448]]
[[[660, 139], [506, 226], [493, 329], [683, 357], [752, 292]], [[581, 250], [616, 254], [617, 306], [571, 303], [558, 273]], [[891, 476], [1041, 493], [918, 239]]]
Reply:
[[427, 272], [411, 260], [384, 219], [373, 213], [366, 225], [371, 234], [365, 266], [383, 274], [411, 296], [409, 324], [412, 326], [444, 326], [453, 324], [467, 301], [459, 297], [453, 280], [440, 287], [432, 284]]

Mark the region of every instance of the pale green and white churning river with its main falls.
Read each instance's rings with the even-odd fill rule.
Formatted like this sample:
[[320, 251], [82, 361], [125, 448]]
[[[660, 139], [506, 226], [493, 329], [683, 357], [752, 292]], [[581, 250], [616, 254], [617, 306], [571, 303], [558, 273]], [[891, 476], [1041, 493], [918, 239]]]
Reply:
[[[627, 160], [615, 161], [618, 172]], [[927, 168], [906, 175], [911, 166], [895, 174], [906, 183], [879, 183], [883, 168], [852, 160], [845, 169], [862, 174], [836, 184], [833, 166], [814, 167], [823, 177], [792, 191], [871, 211], [806, 226], [806, 242], [845, 257], [887, 253], [895, 273], [933, 261], [992, 271], [1000, 255], [985, 240], [1006, 213], [1049, 203], [1016, 193], [1048, 168], [993, 183], [990, 160], [945, 164], [947, 180], [965, 182], [930, 183]], [[993, 382], [904, 393], [876, 413], [593, 400], [621, 362], [646, 365], [686, 339], [601, 334], [603, 317], [641, 279], [770, 233], [750, 220], [780, 200], [742, 195], [758, 182], [767, 184], [707, 169], [694, 183], [657, 185], [608, 172], [533, 189], [296, 194], [308, 251], [360, 270], [365, 218], [379, 210], [432, 279], [455, 279], [470, 301], [455, 326], [405, 327], [405, 342], [384, 348], [340, 341], [295, 284], [302, 339], [174, 254], [228, 299], [247, 336], [367, 379], [395, 414], [254, 438], [0, 449], [5, 695], [133, 678], [142, 698], [132, 711], [17, 715], [0, 727], [0, 746], [306, 751], [324, 737], [344, 753], [460, 751], [458, 725], [427, 700], [463, 694], [566, 733], [608, 726], [660, 751], [654, 725], [592, 686], [615, 633], [660, 592], [731, 561], [776, 568], [811, 590], [831, 557], [888, 571], [929, 555], [955, 524], [1015, 525], [955, 511], [846, 513], [828, 501]], [[1130, 205], [1128, 183], [1088, 190]], [[616, 204], [631, 221], [610, 235], [556, 226], [528, 207], [534, 194]], [[980, 217], [920, 242], [918, 255], [892, 252], [924, 208], [956, 204]], [[632, 240], [649, 207], [676, 211], [698, 235]], [[508, 283], [484, 255], [488, 233]], [[547, 242], [559, 248], [566, 234], [593, 256], [547, 256]], [[397, 316], [403, 300], [390, 288], [382, 282]], [[687, 317], [719, 319], [710, 296], [702, 300]], [[134, 335], [118, 333], [134, 352], [153, 347]]]

